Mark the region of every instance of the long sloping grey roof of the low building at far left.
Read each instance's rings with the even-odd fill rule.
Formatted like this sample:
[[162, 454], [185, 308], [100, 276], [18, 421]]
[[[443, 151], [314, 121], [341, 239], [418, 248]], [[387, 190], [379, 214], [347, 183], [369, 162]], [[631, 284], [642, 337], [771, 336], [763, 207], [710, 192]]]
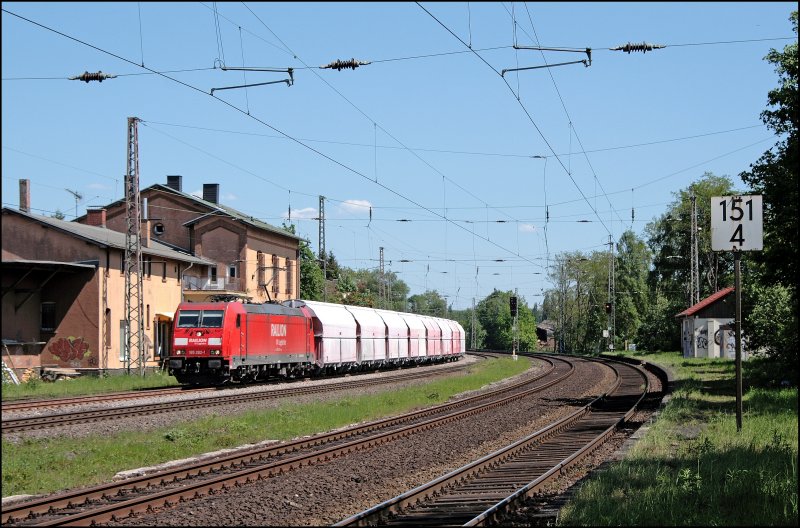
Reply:
[[[54, 229], [58, 229], [64, 233], [82, 238], [100, 247], [112, 247], [115, 249], [125, 250], [127, 246], [125, 239], [126, 234], [119, 231], [114, 231], [105, 227], [90, 226], [79, 224], [77, 222], [68, 222], [66, 220], [58, 220], [49, 216], [40, 216], [32, 213], [26, 213], [3, 207], [3, 214], [16, 214], [28, 218], [39, 224], [45, 224]], [[183, 262], [192, 262], [194, 264], [201, 264], [205, 266], [216, 265], [215, 261], [190, 255], [184, 251], [178, 251], [170, 246], [162, 244], [156, 240], [150, 240], [150, 247], [142, 247], [143, 255], [153, 255], [162, 258], [170, 258], [173, 260], [180, 260]]]

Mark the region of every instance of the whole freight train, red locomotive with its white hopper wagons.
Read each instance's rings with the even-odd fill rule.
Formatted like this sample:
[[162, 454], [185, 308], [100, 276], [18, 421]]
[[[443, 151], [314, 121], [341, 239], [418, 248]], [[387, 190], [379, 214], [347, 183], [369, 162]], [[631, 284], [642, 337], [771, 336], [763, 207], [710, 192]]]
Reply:
[[181, 303], [169, 372], [180, 383], [220, 385], [457, 361], [464, 328], [449, 319], [359, 306]]

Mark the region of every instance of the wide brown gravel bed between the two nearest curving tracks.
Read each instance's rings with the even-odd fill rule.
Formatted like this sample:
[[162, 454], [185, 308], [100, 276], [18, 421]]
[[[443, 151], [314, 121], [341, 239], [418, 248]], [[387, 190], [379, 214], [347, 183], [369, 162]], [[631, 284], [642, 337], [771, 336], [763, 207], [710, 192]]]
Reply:
[[502, 411], [111, 525], [330, 525], [541, 429], [611, 383], [612, 374], [602, 365], [580, 362], [577, 369], [567, 387], [547, 389]]

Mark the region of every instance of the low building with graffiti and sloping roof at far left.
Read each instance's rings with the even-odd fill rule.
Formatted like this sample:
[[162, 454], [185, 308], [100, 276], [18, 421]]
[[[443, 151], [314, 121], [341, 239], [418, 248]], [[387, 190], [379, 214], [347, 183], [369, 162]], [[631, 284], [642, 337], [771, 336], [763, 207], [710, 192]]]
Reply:
[[[125, 340], [125, 233], [2, 209], [3, 360], [26, 369], [121, 371]], [[146, 367], [170, 346], [183, 285], [215, 262], [152, 238], [142, 241], [142, 326]], [[8, 355], [7, 355], [8, 353]]]

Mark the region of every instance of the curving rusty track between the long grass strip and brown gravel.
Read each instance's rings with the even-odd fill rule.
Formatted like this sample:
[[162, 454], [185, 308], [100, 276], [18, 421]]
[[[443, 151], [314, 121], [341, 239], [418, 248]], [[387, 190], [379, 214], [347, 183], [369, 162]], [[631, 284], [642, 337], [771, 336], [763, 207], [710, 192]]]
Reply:
[[542, 358], [538, 376], [494, 391], [334, 433], [239, 452], [212, 461], [159, 471], [121, 482], [60, 493], [3, 508], [2, 523], [15, 526], [87, 525], [213, 494], [297, 468], [407, 439], [455, 420], [483, 413], [568, 379], [575, 367], [561, 358]]

